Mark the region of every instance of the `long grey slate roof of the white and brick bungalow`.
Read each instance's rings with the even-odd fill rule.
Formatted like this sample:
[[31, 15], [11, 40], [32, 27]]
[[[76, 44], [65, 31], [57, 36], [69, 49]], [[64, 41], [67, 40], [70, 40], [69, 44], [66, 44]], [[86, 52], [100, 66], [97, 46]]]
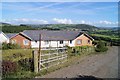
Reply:
[[[32, 40], [73, 40], [83, 34], [80, 31], [48, 31], [48, 30], [24, 30], [23, 34], [30, 37]], [[89, 37], [89, 36], [88, 36]], [[91, 37], [89, 37], [91, 38]], [[92, 39], [92, 38], [91, 38]]]

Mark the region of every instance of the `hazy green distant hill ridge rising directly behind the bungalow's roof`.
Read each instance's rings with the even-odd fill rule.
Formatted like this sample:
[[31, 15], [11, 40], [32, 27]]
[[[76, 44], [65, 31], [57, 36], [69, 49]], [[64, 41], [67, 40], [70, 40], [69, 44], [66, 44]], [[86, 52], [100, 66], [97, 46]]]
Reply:
[[34, 28], [43, 28], [43, 29], [59, 29], [59, 30], [97, 30], [99, 28], [87, 25], [87, 24], [38, 24], [38, 25], [31, 25], [31, 24], [21, 24], [21, 26], [31, 26]]

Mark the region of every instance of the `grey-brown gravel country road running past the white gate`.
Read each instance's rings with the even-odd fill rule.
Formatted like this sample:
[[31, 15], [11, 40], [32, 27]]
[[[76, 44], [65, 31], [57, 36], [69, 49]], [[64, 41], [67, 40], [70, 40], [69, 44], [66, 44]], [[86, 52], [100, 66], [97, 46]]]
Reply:
[[79, 64], [51, 72], [40, 78], [73, 78], [92, 75], [98, 78], [118, 78], [118, 47], [110, 47], [107, 54], [95, 54], [78, 60]]

